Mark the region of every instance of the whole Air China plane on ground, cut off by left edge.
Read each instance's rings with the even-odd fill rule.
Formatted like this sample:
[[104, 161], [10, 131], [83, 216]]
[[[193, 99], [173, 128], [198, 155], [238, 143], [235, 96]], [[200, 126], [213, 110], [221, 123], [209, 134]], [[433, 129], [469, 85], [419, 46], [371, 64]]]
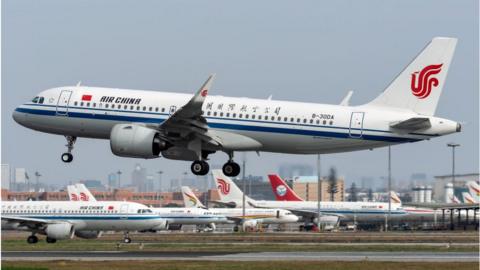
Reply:
[[102, 231], [161, 230], [167, 221], [145, 205], [133, 202], [90, 201], [2, 201], [2, 229], [30, 231], [29, 244], [38, 242], [35, 234], [46, 235], [47, 243], [74, 235], [93, 239]]

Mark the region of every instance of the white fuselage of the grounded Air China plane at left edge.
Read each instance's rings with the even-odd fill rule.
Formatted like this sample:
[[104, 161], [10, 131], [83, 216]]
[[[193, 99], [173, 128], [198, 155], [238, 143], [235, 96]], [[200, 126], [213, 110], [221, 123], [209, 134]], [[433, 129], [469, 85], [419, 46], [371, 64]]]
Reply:
[[[73, 224], [75, 231], [150, 230], [165, 223], [142, 204], [116, 201], [2, 201], [2, 217], [67, 222]], [[2, 228], [29, 230], [3, 219]]]

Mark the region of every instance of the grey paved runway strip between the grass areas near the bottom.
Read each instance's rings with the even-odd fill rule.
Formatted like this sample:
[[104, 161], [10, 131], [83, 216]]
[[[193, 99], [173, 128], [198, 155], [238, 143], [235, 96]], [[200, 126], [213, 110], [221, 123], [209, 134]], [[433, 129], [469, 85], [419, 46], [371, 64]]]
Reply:
[[149, 252], [149, 251], [5, 251], [2, 261], [390, 261], [478, 262], [477, 252]]

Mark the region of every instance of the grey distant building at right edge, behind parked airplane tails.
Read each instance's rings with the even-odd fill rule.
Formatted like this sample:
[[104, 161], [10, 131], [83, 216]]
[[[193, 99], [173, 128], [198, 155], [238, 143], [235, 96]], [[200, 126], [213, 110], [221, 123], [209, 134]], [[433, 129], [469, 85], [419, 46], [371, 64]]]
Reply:
[[[436, 202], [445, 202], [446, 198], [446, 186], [448, 183], [452, 183], [452, 175], [440, 175], [434, 177], [433, 185], [433, 199]], [[455, 175], [455, 186], [453, 187], [453, 194], [461, 200], [462, 192], [467, 190], [466, 183], [470, 181], [478, 181], [478, 173], [468, 173], [468, 174], [456, 174]]]

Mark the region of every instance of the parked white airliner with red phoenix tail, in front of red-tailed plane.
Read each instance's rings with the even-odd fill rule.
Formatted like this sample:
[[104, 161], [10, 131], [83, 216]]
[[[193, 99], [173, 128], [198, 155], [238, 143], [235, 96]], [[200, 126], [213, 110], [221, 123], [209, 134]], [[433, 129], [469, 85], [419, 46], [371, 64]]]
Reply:
[[[217, 183], [220, 194], [219, 203], [233, 207], [242, 207], [243, 193], [238, 186], [221, 170], [212, 170], [213, 177]], [[278, 186], [275, 186], [274, 193]], [[284, 184], [282, 193], [285, 194], [293, 192], [293, 190]], [[284, 194], [284, 195], [285, 195]], [[298, 197], [298, 195], [297, 195]], [[318, 202], [317, 201], [268, 201], [268, 200], [254, 200], [245, 195], [245, 207], [255, 208], [282, 208], [290, 210], [298, 216], [304, 217], [305, 221], [312, 220], [315, 222], [318, 217]], [[320, 202], [320, 221], [322, 218], [331, 220], [331, 217], [337, 217], [337, 222], [340, 221], [383, 221], [385, 216], [389, 214], [388, 203], [378, 202]], [[396, 219], [404, 216], [407, 213], [399, 204], [391, 204], [391, 218]]]

